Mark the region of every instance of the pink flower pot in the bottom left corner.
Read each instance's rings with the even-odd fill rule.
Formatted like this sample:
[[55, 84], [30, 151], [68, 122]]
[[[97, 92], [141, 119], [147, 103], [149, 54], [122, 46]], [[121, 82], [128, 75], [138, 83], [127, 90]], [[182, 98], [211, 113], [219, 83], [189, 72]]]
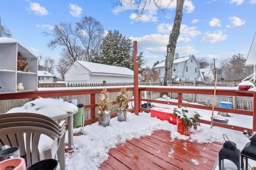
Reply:
[[0, 169], [26, 170], [26, 163], [23, 158], [11, 158], [0, 162]]

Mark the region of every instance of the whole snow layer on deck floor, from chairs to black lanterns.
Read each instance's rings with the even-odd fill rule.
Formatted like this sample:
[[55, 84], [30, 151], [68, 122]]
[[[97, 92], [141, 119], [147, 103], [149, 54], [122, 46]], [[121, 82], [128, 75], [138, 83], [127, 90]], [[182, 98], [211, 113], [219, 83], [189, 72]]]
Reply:
[[[78, 132], [80, 129], [75, 129]], [[74, 137], [74, 153], [66, 155], [66, 169], [98, 169], [108, 159], [108, 151], [115, 148], [119, 143], [133, 138], [150, 135], [155, 130], [170, 131], [172, 137], [181, 140], [196, 141], [199, 143], [220, 141], [223, 142], [222, 134], [225, 133], [230, 141], [237, 143], [238, 149], [243, 149], [249, 139], [242, 132], [201, 125], [190, 137], [177, 133], [177, 126], [167, 121], [150, 117], [148, 113], [140, 113], [139, 116], [129, 113], [126, 122], [118, 122], [117, 117], [112, 118], [110, 126], [103, 128], [98, 122], [87, 125], [84, 134]], [[67, 136], [67, 135], [66, 135]], [[67, 142], [67, 139], [66, 139]], [[170, 150], [169, 157], [173, 151]], [[192, 160], [191, 160], [192, 161]], [[197, 160], [194, 160], [196, 164]]]

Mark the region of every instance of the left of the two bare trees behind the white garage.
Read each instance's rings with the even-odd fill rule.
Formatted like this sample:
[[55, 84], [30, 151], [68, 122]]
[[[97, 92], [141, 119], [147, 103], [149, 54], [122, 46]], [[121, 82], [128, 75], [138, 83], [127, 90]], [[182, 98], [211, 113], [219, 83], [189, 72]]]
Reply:
[[69, 61], [73, 64], [81, 54], [79, 40], [74, 33], [71, 23], [60, 23], [55, 25], [51, 33], [44, 32], [45, 36], [50, 36], [53, 39], [47, 44], [48, 48], [54, 49], [57, 46], [65, 47], [65, 53], [68, 54]]

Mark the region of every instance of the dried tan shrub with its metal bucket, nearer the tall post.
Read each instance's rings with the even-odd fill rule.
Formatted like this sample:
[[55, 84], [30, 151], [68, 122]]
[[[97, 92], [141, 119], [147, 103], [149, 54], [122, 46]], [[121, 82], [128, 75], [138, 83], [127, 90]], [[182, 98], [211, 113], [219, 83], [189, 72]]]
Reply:
[[129, 92], [125, 88], [121, 89], [121, 92], [117, 95], [116, 98], [119, 108], [117, 108], [117, 120], [119, 122], [126, 121], [127, 117], [127, 104], [129, 103]]

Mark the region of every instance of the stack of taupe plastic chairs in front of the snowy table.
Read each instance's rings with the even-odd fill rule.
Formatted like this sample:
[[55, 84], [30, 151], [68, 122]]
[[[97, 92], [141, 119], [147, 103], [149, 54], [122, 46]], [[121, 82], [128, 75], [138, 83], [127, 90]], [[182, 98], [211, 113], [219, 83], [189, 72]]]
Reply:
[[[23, 117], [19, 117], [23, 116]], [[26, 117], [27, 116], [27, 117]], [[40, 117], [40, 118], [37, 118]], [[41, 128], [40, 132], [30, 132], [30, 131], [22, 131], [22, 133], [17, 133], [15, 131], [12, 132], [12, 134], [5, 134], [5, 130], [10, 128], [14, 128], [17, 130], [24, 129], [28, 130], [35, 129], [35, 128]], [[57, 158], [59, 159], [60, 167], [61, 169], [65, 169], [65, 151], [64, 151], [64, 142], [65, 142], [65, 132], [66, 132], [66, 123], [65, 121], [62, 121], [60, 124], [52, 120], [50, 117], [34, 114], [34, 113], [8, 113], [8, 114], [1, 114], [0, 115], [0, 146], [1, 145], [10, 145], [12, 147], [18, 146], [20, 147], [20, 154], [25, 155], [27, 160], [27, 165], [34, 164], [35, 161], [43, 160], [47, 158]], [[45, 134], [45, 131], [50, 131], [51, 136]], [[35, 138], [35, 133], [40, 134], [39, 138]], [[40, 140], [40, 137], [43, 137], [44, 134], [47, 137], [52, 139], [51, 146], [43, 149], [41, 152], [38, 152], [38, 143]], [[36, 135], [38, 137], [38, 135]], [[35, 139], [34, 139], [35, 138]], [[36, 142], [35, 142], [36, 141]], [[26, 145], [25, 145], [26, 143]], [[30, 143], [30, 145], [28, 145]], [[31, 159], [29, 157], [29, 152], [31, 152], [31, 149], [29, 148], [35, 148], [34, 145], [36, 145], [36, 153], [38, 159]], [[35, 149], [32, 151], [35, 151]], [[31, 152], [32, 154], [32, 152]]]

